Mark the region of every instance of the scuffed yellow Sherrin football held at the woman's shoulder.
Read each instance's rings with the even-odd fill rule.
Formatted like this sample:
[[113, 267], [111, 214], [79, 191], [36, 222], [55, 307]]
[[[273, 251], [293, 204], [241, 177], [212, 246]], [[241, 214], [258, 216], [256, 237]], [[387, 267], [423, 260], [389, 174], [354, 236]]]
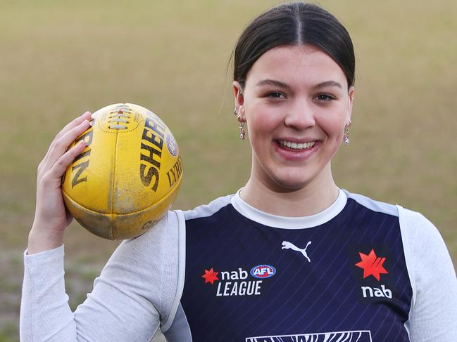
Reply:
[[175, 138], [150, 110], [130, 103], [92, 114], [73, 143], [87, 147], [63, 176], [68, 211], [106, 239], [142, 235], [162, 218], [177, 195], [182, 160]]

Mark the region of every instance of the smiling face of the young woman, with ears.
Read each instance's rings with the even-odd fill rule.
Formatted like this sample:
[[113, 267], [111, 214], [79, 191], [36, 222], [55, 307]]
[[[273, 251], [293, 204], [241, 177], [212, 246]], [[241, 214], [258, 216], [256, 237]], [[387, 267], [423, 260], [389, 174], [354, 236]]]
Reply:
[[351, 119], [353, 88], [329, 55], [307, 45], [273, 48], [244, 88], [234, 81], [234, 93], [251, 141], [251, 179], [280, 192], [333, 182], [330, 160]]

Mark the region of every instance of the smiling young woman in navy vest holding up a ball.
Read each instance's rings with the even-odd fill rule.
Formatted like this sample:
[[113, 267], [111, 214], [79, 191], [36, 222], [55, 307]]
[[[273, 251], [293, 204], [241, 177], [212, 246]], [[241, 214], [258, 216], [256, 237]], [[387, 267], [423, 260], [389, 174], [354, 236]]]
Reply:
[[354, 65], [346, 29], [318, 6], [253, 20], [233, 82], [248, 183], [123, 242], [75, 313], [60, 179], [84, 149], [65, 152], [90, 114], [65, 126], [39, 166], [22, 341], [150, 341], [159, 327], [180, 342], [457, 341], [457, 280], [437, 229], [332, 178], [349, 139]]

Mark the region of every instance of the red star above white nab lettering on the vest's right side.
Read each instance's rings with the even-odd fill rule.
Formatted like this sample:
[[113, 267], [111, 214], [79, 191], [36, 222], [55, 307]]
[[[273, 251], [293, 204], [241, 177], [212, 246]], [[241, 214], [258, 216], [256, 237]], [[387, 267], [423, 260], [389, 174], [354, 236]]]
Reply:
[[[363, 254], [358, 252], [358, 255], [361, 258], [361, 261], [355, 265], [358, 268], [363, 269], [363, 279], [372, 276], [377, 280], [381, 281], [381, 275], [387, 275], [389, 272], [384, 268], [385, 257], [379, 257], [376, 255], [375, 249], [371, 249], [369, 254]], [[368, 278], [372, 279], [372, 278]], [[380, 284], [377, 286], [362, 286], [361, 295], [363, 298], [389, 298], [392, 299], [392, 290], [388, 289], [386, 285]]]

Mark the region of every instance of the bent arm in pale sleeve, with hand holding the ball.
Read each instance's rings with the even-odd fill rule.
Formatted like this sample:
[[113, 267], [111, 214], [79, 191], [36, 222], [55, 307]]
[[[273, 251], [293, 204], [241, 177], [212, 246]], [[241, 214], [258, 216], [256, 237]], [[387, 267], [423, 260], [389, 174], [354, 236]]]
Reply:
[[[89, 126], [90, 113], [58, 133], [39, 164], [35, 221], [25, 252], [20, 341], [150, 341], [168, 318], [176, 294], [177, 223], [169, 213], [154, 229], [125, 240], [94, 282], [87, 300], [72, 313], [65, 293], [61, 176], [84, 150], [68, 146]], [[173, 221], [173, 218], [172, 220]], [[176, 220], [177, 222], [177, 220]], [[165, 291], [165, 294], [164, 294]]]

